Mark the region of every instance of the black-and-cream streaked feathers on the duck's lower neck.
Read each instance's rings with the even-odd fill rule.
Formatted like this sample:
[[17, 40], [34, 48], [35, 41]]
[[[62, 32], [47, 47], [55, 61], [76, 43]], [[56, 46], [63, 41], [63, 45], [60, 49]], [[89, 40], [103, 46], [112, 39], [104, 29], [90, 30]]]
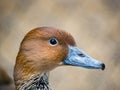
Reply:
[[48, 73], [31, 77], [28, 81], [21, 82], [17, 90], [51, 90], [48, 82]]

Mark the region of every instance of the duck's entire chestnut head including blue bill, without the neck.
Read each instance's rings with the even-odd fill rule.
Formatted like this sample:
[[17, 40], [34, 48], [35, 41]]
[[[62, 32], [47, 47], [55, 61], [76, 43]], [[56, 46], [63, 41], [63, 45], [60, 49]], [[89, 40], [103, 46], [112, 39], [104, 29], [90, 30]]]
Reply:
[[103, 63], [77, 48], [73, 37], [65, 31], [51, 27], [30, 31], [21, 43], [16, 66], [27, 68], [23, 71], [46, 72], [59, 65], [105, 68]]

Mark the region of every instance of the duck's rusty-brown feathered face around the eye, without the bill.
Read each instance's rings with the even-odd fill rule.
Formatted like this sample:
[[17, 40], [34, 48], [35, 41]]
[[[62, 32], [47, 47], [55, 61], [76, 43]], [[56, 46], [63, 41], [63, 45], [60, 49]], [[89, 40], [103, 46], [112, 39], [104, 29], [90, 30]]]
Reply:
[[49, 71], [63, 64], [69, 45], [75, 46], [70, 34], [55, 28], [37, 28], [25, 36], [20, 53], [26, 57], [24, 64], [31, 64], [38, 71]]

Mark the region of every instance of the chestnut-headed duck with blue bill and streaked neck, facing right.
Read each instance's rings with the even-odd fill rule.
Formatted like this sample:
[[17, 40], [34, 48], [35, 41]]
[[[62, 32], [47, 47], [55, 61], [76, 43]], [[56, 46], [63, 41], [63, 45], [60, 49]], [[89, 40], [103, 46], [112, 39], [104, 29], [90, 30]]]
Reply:
[[80, 50], [73, 36], [54, 27], [38, 27], [23, 38], [14, 66], [15, 90], [51, 90], [49, 72], [58, 66], [105, 69]]

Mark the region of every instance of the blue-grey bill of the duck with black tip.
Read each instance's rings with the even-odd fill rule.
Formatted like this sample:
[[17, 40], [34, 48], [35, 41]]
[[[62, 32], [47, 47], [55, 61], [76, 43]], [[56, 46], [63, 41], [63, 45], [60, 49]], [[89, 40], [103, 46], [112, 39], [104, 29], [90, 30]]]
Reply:
[[105, 64], [88, 56], [79, 48], [69, 46], [67, 58], [63, 61], [64, 65], [80, 66], [88, 69], [105, 69]]

